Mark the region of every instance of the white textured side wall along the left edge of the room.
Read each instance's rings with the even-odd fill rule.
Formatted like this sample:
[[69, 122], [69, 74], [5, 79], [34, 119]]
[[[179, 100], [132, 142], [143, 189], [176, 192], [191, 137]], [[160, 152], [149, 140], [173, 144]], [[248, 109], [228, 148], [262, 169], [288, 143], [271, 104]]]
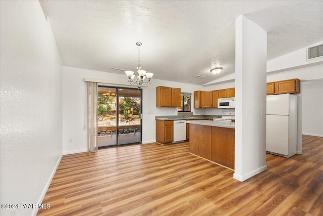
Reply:
[[63, 67], [39, 2], [0, 2], [1, 204], [37, 204], [62, 156]]

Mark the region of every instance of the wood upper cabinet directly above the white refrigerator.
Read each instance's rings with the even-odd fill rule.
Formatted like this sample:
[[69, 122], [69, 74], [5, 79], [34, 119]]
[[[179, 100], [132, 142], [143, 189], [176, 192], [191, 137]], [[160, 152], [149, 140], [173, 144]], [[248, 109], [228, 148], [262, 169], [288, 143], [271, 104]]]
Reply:
[[267, 82], [267, 95], [300, 93], [300, 80], [287, 79], [276, 82]]

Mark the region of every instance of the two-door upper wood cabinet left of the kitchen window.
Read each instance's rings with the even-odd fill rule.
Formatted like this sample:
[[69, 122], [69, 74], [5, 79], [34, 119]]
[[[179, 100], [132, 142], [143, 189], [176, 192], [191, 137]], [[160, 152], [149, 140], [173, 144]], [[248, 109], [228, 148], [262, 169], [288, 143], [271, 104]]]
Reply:
[[180, 107], [181, 89], [156, 87], [156, 107]]

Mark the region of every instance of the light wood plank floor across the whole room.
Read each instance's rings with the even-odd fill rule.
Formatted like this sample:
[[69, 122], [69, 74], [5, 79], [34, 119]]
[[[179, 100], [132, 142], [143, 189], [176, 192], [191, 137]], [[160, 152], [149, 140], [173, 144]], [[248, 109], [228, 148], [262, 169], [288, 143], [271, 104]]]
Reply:
[[156, 143], [63, 156], [37, 215], [323, 215], [323, 138], [303, 154], [267, 154], [266, 171], [233, 171]]

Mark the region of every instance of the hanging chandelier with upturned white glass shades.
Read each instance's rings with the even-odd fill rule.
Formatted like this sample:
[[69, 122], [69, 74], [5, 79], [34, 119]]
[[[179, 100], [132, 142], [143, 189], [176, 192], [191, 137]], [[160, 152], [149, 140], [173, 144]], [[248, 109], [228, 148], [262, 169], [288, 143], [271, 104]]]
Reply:
[[[140, 46], [142, 45], [142, 43], [138, 41], [138, 42], [136, 42], [136, 45], [138, 46], [138, 66], [137, 66], [138, 76], [135, 79], [135, 75], [133, 74], [134, 72], [131, 70], [127, 70], [127, 71], [125, 71], [125, 73], [128, 76], [128, 82], [130, 82], [130, 84], [137, 84], [138, 89], [140, 89], [143, 83], [150, 83], [150, 79], [152, 78], [153, 73], [147, 72], [145, 70], [141, 70], [141, 67], [140, 67]], [[145, 78], [147, 78], [148, 80], [144, 81]]]

